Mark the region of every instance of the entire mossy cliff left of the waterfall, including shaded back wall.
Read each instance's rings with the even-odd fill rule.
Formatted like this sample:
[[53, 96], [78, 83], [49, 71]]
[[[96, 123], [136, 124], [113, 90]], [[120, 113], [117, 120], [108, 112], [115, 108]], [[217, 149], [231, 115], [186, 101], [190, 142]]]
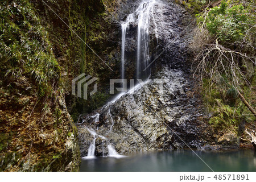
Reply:
[[71, 81], [82, 72], [109, 72], [82, 40], [115, 66], [101, 50], [112, 55], [104, 45], [118, 6], [102, 0], [1, 1], [0, 171], [79, 170], [77, 129], [69, 113], [76, 119], [107, 97], [99, 92], [77, 100], [70, 96]]

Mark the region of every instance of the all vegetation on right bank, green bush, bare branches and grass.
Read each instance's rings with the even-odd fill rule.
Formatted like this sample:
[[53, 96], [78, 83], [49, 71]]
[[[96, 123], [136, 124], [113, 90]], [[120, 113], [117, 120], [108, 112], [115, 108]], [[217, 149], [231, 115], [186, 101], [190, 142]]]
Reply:
[[255, 65], [255, 17], [255, 1], [251, 0], [221, 1], [197, 15], [196, 66], [205, 77], [203, 98], [213, 114], [209, 123], [218, 129], [237, 130], [241, 121], [255, 120], [237, 92], [255, 107], [255, 77], [251, 76], [255, 69], [250, 68]]

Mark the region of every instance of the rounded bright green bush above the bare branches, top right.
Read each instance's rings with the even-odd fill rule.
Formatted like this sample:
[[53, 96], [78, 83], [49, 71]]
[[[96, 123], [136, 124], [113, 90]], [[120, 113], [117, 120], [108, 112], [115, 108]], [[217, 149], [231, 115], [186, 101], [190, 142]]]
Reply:
[[210, 9], [206, 16], [201, 15], [197, 22], [203, 22], [210, 34], [222, 42], [241, 41], [246, 30], [255, 23], [255, 16], [251, 16], [251, 11], [252, 6], [222, 1], [220, 6]]

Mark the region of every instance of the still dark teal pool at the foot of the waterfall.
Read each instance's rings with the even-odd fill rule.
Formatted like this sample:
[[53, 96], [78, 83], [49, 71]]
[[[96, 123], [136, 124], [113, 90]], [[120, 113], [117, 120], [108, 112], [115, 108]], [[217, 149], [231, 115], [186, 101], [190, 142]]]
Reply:
[[[254, 150], [195, 151], [214, 171], [256, 171]], [[82, 159], [80, 171], [210, 171], [191, 150]]]

